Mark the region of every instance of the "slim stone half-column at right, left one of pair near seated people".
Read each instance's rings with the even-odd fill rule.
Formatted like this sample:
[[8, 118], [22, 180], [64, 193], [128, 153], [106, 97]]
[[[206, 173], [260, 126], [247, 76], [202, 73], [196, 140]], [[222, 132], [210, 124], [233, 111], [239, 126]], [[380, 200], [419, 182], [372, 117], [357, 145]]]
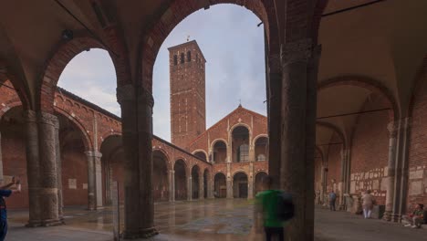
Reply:
[[386, 207], [383, 219], [386, 221], [391, 221], [393, 213], [393, 196], [394, 196], [394, 177], [396, 174], [395, 163], [396, 163], [396, 142], [397, 142], [397, 131], [399, 128], [399, 123], [391, 121], [387, 129], [389, 130], [390, 139], [389, 139], [389, 162], [387, 165], [387, 177], [382, 179], [381, 182], [386, 182], [387, 184], [387, 194], [386, 194]]

